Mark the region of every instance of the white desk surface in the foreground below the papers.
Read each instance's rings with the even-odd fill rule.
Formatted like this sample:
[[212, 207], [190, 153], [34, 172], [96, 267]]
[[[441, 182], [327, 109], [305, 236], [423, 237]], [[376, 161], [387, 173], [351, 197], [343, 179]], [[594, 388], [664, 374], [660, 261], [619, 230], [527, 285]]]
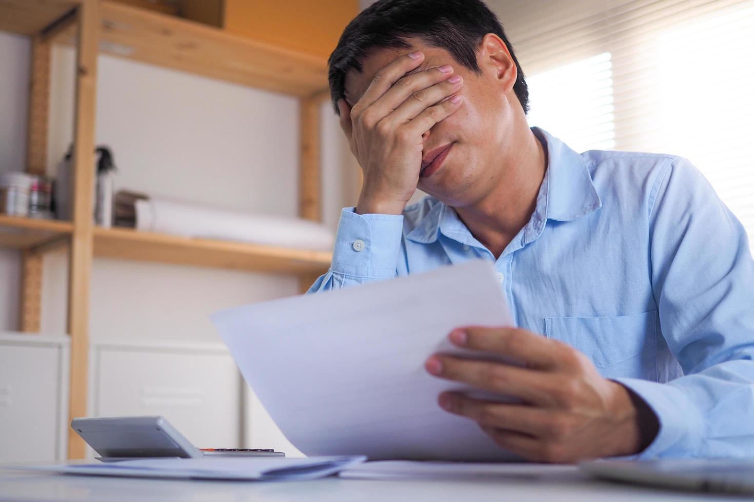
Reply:
[[[446, 479], [357, 480], [326, 478], [304, 482], [207, 482], [169, 479], [124, 479], [95, 476], [59, 476], [0, 470], [0, 500], [190, 500], [242, 502], [244, 500], [326, 500], [337, 502], [393, 502], [416, 500], [482, 502], [532, 500], [535, 502], [621, 502], [623, 500], [734, 500], [594, 481], [578, 473], [558, 479]], [[737, 500], [743, 500], [741, 498]]]

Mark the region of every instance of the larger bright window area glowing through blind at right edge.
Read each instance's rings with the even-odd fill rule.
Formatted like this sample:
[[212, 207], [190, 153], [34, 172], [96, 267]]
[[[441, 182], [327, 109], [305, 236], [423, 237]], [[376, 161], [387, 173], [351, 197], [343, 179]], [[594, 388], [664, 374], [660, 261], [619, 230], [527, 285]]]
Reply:
[[754, 236], [754, 8], [658, 39], [661, 124], [669, 153], [688, 157]]

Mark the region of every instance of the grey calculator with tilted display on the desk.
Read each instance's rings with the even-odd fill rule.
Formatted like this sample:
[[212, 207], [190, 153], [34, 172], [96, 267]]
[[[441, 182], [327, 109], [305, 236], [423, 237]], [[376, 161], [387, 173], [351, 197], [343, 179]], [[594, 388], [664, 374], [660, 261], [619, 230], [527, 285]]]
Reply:
[[162, 416], [74, 418], [71, 427], [100, 456], [114, 462], [134, 458], [284, 457], [274, 449], [198, 449]]

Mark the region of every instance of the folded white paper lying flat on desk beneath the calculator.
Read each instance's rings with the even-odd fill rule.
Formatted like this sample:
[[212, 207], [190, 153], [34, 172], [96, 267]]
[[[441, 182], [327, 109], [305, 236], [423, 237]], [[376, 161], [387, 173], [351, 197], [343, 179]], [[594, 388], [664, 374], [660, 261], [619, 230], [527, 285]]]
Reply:
[[364, 457], [311, 458], [143, 458], [104, 464], [8, 467], [61, 474], [173, 479], [294, 481], [331, 476]]

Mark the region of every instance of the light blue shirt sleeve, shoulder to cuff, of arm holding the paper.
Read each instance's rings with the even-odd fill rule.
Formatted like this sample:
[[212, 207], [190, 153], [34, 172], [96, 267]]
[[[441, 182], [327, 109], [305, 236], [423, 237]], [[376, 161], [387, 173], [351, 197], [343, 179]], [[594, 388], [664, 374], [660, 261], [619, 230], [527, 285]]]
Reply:
[[754, 260], [746, 231], [691, 163], [650, 192], [654, 300], [684, 376], [617, 379], [660, 422], [639, 458], [754, 455]]

